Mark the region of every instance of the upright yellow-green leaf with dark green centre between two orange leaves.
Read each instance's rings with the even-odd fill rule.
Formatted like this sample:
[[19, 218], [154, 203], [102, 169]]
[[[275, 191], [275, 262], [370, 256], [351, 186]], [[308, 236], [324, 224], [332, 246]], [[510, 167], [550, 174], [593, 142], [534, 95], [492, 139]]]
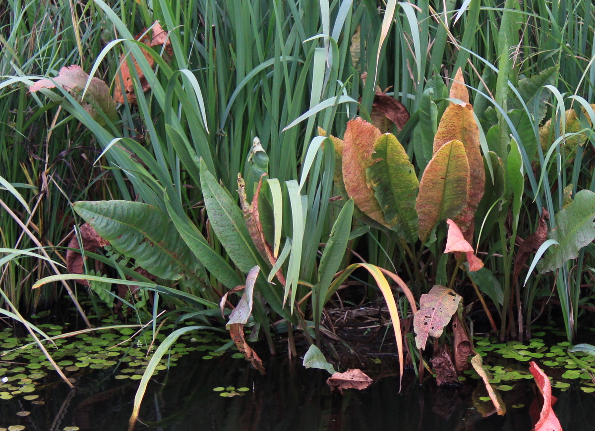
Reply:
[[415, 198], [419, 181], [414, 166], [400, 142], [392, 134], [384, 134], [374, 145], [374, 160], [367, 170], [368, 184], [384, 212], [384, 219], [393, 231], [408, 243], [417, 241]]

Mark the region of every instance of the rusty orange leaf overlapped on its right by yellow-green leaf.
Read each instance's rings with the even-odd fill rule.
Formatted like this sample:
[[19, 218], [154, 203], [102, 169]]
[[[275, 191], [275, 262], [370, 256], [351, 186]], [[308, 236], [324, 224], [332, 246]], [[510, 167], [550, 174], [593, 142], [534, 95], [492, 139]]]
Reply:
[[343, 137], [343, 182], [347, 196], [353, 198], [365, 215], [389, 227], [366, 176], [366, 169], [374, 163], [372, 153], [380, 136], [380, 130], [364, 119], [355, 118], [347, 122]]

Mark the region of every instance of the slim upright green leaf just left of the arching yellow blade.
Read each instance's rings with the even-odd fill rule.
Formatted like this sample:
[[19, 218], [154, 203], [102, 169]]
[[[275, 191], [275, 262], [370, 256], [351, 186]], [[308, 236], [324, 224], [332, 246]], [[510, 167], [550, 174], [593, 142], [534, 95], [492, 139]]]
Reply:
[[312, 289], [312, 309], [314, 314], [314, 325], [318, 328], [324, 299], [327, 296], [328, 287], [345, 255], [347, 242], [349, 241], [349, 232], [351, 231], [351, 222], [353, 215], [353, 200], [350, 199], [341, 209], [337, 220], [333, 224], [330, 237], [322, 252], [320, 266], [318, 267], [318, 284]]

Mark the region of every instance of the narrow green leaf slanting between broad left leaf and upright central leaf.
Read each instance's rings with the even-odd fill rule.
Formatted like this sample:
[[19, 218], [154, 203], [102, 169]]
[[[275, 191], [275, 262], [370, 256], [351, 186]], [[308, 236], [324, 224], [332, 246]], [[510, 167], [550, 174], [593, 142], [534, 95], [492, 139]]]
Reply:
[[174, 226], [196, 259], [228, 289], [242, 284], [236, 271], [211, 247], [193, 222], [187, 216], [182, 217], [174, 211], [168, 196], [165, 197], [165, 206]]

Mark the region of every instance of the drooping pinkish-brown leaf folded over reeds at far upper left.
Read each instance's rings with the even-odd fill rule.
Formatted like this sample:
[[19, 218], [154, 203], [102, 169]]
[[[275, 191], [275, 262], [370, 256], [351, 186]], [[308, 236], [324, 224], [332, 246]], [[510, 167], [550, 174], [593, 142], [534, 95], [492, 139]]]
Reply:
[[[78, 65], [71, 65], [62, 67], [58, 76], [52, 79], [40, 79], [35, 84], [29, 87], [29, 91], [34, 93], [40, 89], [53, 89], [56, 84], [62, 86], [63, 89], [73, 95], [84, 108], [89, 112], [89, 115], [95, 119], [100, 125], [105, 125], [105, 119], [99, 114], [97, 109], [104, 112], [105, 116], [114, 122], [118, 115], [115, 111], [115, 100], [109, 96], [109, 89], [107, 84], [99, 78], [92, 78], [87, 91], [84, 92], [84, 87], [89, 80], [89, 75], [82, 70]], [[84, 99], [83, 99], [84, 92]]]

